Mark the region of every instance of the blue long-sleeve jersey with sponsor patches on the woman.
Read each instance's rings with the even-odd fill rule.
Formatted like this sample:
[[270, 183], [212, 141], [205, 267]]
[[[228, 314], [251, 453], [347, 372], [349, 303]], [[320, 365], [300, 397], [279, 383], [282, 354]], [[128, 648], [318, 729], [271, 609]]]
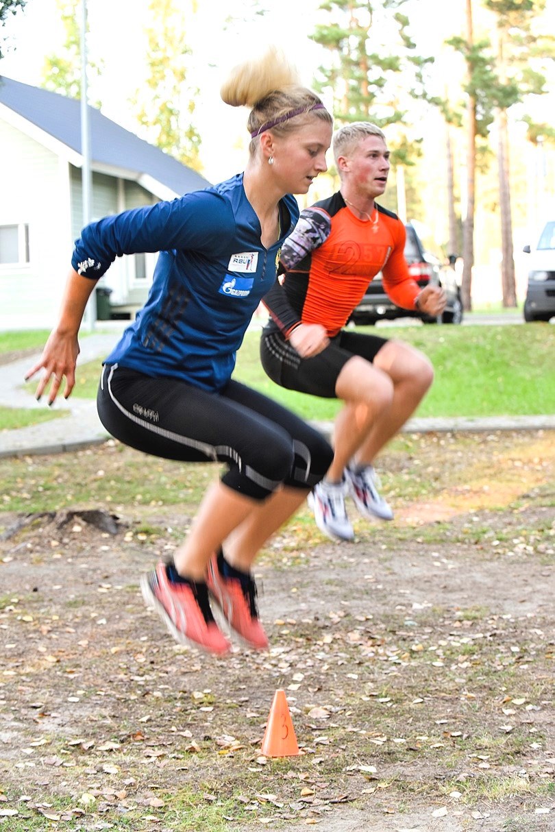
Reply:
[[87, 225], [72, 256], [85, 277], [101, 277], [116, 256], [160, 252], [146, 304], [107, 364], [222, 389], [298, 218], [287, 194], [280, 201], [280, 239], [265, 249], [238, 174], [206, 191]]

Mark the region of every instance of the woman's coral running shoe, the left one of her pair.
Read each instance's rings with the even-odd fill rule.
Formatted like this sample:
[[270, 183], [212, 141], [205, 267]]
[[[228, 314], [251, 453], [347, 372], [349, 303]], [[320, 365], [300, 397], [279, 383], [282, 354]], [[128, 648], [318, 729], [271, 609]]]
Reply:
[[[206, 583], [186, 579], [171, 580], [173, 563], [158, 563], [156, 569], [141, 577], [146, 605], [156, 610], [171, 635], [181, 644], [199, 647], [222, 656], [230, 651], [230, 642], [214, 621]], [[176, 574], [176, 573], [175, 573]]]

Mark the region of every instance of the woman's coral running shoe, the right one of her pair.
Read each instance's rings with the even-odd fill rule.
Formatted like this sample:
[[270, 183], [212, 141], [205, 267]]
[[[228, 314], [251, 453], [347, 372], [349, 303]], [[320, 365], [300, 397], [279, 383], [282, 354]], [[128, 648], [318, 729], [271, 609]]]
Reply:
[[206, 583], [211, 596], [233, 630], [249, 647], [265, 650], [268, 636], [260, 624], [256, 607], [256, 584], [250, 572], [231, 567], [222, 552], [208, 564]]

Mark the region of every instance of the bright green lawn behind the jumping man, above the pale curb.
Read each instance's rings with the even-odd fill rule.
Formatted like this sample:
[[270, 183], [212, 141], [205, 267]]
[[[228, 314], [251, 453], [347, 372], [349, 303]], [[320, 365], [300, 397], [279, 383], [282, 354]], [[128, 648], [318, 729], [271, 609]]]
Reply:
[[[399, 338], [434, 364], [435, 380], [417, 415], [421, 417], [524, 416], [555, 413], [555, 327], [545, 324], [427, 326], [359, 331]], [[278, 387], [259, 359], [260, 334], [248, 332], [237, 357], [235, 378], [277, 399], [303, 418], [333, 419], [340, 404]], [[101, 361], [77, 370], [74, 396], [94, 399]]]

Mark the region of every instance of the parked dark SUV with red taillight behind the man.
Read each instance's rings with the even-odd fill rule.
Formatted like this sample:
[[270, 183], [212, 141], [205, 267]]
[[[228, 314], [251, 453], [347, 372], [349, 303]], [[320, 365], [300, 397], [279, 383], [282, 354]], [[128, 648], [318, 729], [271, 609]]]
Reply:
[[405, 225], [407, 241], [404, 256], [409, 264], [409, 275], [419, 286], [429, 283], [444, 287], [447, 305], [439, 318], [430, 318], [421, 312], [404, 310], [396, 306], [386, 294], [382, 284], [381, 272], [369, 283], [364, 298], [354, 309], [350, 320], [354, 324], [375, 324], [377, 320], [394, 318], [420, 318], [424, 324], [460, 324], [463, 320], [463, 302], [460, 296], [455, 271], [451, 266], [443, 265], [437, 257], [424, 250], [419, 235], [412, 225]]

